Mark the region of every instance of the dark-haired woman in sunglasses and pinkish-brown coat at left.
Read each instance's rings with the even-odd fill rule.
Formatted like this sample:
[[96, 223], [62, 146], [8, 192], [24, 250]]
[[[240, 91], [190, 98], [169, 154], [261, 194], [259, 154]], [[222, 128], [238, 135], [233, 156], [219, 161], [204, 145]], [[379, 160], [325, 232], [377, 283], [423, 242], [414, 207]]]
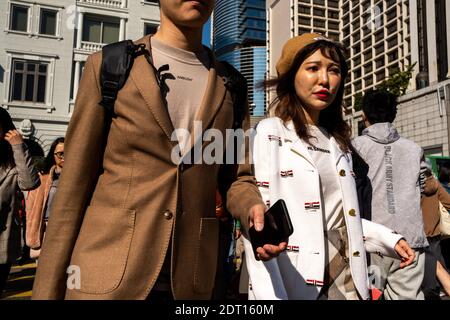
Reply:
[[41, 185], [30, 191], [26, 199], [27, 228], [26, 244], [30, 247], [30, 257], [37, 259], [45, 236], [51, 205], [58, 190], [59, 176], [64, 167], [64, 138], [57, 138], [43, 162], [40, 174]]

